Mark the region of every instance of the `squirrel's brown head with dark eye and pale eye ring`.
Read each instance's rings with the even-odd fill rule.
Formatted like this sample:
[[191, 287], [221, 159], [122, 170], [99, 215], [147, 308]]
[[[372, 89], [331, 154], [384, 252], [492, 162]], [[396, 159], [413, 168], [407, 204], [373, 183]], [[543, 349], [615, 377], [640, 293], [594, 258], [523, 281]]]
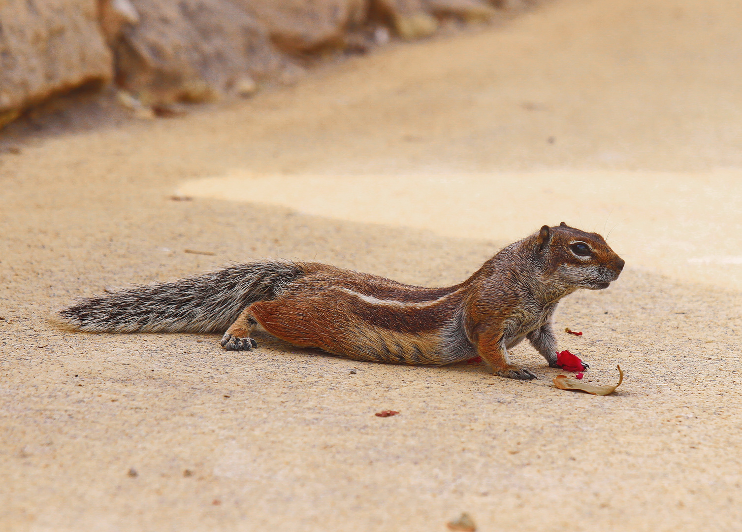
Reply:
[[535, 237], [536, 253], [551, 280], [601, 290], [623, 270], [625, 261], [600, 234], [586, 233], [562, 222], [559, 226], [543, 226]]

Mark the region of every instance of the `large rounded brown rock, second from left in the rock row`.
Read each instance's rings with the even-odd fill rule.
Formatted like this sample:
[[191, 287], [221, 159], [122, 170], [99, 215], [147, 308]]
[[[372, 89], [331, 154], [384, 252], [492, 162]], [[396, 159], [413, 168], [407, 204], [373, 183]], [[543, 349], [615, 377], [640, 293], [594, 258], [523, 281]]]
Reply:
[[116, 81], [145, 105], [207, 102], [235, 79], [278, 77], [269, 33], [229, 0], [132, 0], [139, 22], [114, 45]]

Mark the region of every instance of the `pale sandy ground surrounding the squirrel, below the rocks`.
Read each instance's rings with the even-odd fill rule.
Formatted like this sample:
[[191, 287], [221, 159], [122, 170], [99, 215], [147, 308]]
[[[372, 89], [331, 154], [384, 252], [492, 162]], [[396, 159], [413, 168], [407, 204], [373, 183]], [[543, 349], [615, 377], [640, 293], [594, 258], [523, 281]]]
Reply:
[[[0, 529], [742, 530], [741, 24], [732, 1], [555, 1], [2, 155]], [[562, 220], [628, 263], [557, 315], [585, 378], [626, 371], [608, 397], [555, 390], [526, 345], [524, 383], [46, 321], [251, 257], [444, 285]]]

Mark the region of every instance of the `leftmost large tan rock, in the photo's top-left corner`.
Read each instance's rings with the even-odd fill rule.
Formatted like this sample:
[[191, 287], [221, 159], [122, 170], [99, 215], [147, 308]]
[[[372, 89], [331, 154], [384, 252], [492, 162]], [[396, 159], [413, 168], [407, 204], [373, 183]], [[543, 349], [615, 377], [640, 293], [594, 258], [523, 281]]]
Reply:
[[54, 93], [111, 80], [96, 0], [1, 1], [0, 65], [0, 127]]

